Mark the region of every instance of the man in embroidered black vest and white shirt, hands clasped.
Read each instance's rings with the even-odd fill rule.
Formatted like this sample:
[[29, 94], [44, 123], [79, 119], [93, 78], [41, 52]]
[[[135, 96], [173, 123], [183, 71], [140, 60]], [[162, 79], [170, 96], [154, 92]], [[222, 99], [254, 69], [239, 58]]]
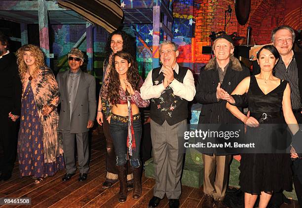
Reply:
[[166, 194], [169, 207], [178, 208], [188, 101], [194, 98], [195, 86], [192, 72], [176, 62], [179, 51], [175, 43], [163, 41], [159, 53], [162, 67], [151, 70], [141, 87], [142, 98], [151, 99], [155, 186], [149, 207], [157, 207]]

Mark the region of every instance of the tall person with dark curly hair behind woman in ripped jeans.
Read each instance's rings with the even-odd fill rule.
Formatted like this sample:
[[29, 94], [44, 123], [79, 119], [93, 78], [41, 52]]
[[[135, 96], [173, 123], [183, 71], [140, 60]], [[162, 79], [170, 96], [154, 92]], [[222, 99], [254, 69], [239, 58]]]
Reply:
[[[108, 85], [110, 81], [110, 71], [112, 66], [112, 57], [113, 55], [118, 51], [125, 51], [129, 52], [131, 55], [134, 55], [132, 44], [129, 35], [127, 35], [123, 31], [114, 31], [107, 39], [106, 43], [106, 51], [107, 51], [107, 58], [104, 61], [104, 67], [103, 67], [103, 85], [100, 90], [99, 94], [99, 104], [98, 104], [98, 110], [97, 110], [97, 122], [99, 125], [103, 125], [103, 131], [106, 138], [106, 180], [103, 183], [103, 188], [107, 189], [110, 188], [116, 181], [117, 181], [117, 169], [114, 165], [115, 161], [115, 153], [114, 153], [114, 145], [113, 145], [113, 139], [110, 135], [110, 126], [107, 120], [105, 119], [108, 117], [109, 114], [109, 103], [108, 103]], [[134, 57], [134, 56], [133, 56]], [[103, 119], [104, 118], [104, 119]], [[133, 176], [131, 173], [130, 166], [128, 167], [128, 175], [127, 175], [127, 184], [128, 184], [128, 190], [131, 190], [133, 188]]]

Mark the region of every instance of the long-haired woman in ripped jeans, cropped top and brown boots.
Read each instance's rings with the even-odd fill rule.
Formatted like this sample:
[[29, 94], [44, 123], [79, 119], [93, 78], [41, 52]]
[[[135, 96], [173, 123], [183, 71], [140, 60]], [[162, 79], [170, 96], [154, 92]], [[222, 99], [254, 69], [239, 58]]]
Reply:
[[118, 201], [125, 202], [127, 150], [133, 172], [133, 198], [138, 199], [142, 194], [140, 162], [142, 124], [139, 107], [147, 107], [149, 101], [141, 98], [141, 78], [132, 56], [127, 52], [117, 52], [113, 55], [112, 62], [107, 96], [111, 113], [107, 120], [110, 123], [120, 184]]

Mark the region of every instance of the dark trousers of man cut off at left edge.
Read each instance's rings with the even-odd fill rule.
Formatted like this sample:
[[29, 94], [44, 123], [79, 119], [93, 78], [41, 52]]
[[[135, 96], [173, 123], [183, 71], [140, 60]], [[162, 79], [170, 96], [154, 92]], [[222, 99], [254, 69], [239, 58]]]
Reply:
[[0, 114], [0, 144], [3, 157], [0, 158], [2, 174], [11, 174], [16, 161], [17, 122], [8, 118], [8, 113]]

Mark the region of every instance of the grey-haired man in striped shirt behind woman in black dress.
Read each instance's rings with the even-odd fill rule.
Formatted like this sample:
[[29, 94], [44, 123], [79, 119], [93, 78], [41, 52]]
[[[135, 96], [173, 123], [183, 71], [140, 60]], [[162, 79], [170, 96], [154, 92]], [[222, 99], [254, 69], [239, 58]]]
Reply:
[[[286, 25], [275, 28], [271, 33], [271, 41], [280, 54], [273, 75], [285, 79], [291, 87], [293, 113], [299, 124], [302, 123], [302, 53], [293, 51], [295, 31]], [[260, 73], [257, 61], [253, 62], [253, 74]], [[302, 160], [293, 162], [293, 180], [300, 207], [302, 207]], [[274, 193], [270, 205], [275, 207], [283, 204], [282, 192]]]

